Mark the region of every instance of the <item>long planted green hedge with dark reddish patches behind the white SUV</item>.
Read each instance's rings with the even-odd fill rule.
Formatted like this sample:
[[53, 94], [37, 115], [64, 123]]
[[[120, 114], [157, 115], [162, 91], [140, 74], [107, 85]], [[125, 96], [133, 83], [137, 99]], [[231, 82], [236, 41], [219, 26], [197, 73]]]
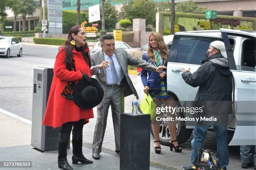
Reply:
[[[256, 30], [256, 18], [248, 18], [248, 17], [234, 17], [228, 15], [217, 15], [218, 20], [213, 20], [215, 23], [212, 25], [213, 29], [221, 28], [233, 28], [240, 29], [249, 28]], [[221, 22], [220, 22], [220, 21]], [[227, 24], [224, 24], [226, 21]], [[240, 25], [238, 25], [238, 21], [240, 21]], [[186, 31], [193, 30], [193, 27], [197, 28], [197, 30], [202, 29], [200, 25], [197, 25], [199, 22], [206, 22], [203, 29], [208, 29], [209, 19], [205, 19], [205, 14], [192, 14], [192, 13], [176, 13], [175, 14], [175, 24], [181, 25], [185, 27]], [[207, 23], [208, 22], [208, 23]], [[170, 29], [171, 25], [171, 13], [160, 12], [159, 13], [159, 32], [161, 34], [164, 33], [164, 30]], [[231, 26], [230, 26], [231, 24]]]

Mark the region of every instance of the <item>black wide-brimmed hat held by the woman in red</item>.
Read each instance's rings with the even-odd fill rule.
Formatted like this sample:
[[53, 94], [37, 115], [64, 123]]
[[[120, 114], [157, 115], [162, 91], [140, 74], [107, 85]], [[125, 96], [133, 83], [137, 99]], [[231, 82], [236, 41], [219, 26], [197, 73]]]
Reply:
[[104, 90], [100, 83], [91, 77], [92, 82], [80, 80], [74, 87], [73, 100], [74, 103], [82, 109], [90, 109], [98, 104], [103, 99]]

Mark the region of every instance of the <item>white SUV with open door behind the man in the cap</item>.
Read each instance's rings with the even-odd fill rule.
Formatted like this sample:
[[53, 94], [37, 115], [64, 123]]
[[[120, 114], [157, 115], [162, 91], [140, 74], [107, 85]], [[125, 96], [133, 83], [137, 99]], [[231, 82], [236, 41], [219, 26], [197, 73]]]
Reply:
[[[182, 68], [190, 67], [190, 72], [195, 72], [201, 65], [200, 60], [205, 59], [205, 51], [208, 49], [210, 42], [215, 40], [221, 40], [225, 43], [230, 70], [234, 78], [233, 100], [239, 101], [235, 102], [234, 107], [236, 119], [228, 126], [228, 130], [235, 131], [229, 145], [255, 145], [256, 32], [228, 29], [177, 32], [172, 41], [167, 65], [168, 94], [179, 101], [177, 104], [180, 106], [182, 101], [193, 101], [195, 99], [198, 87], [191, 87], [184, 82], [181, 76]], [[142, 84], [141, 86], [143, 87]], [[138, 92], [138, 94], [141, 94], [141, 92]], [[245, 105], [247, 105], [246, 110]], [[186, 117], [187, 115], [183, 113], [180, 116]], [[193, 126], [186, 125], [186, 122], [177, 122], [179, 143], [186, 142], [192, 130]], [[168, 145], [169, 138], [166, 122], [162, 122], [161, 144]]]

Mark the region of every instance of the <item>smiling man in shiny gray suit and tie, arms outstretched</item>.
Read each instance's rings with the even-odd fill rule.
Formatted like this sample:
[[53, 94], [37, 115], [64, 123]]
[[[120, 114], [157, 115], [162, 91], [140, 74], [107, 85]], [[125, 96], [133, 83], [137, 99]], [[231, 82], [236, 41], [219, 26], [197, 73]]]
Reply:
[[115, 49], [113, 35], [103, 35], [100, 38], [100, 45], [102, 50], [93, 53], [91, 56], [92, 74], [96, 74], [96, 79], [104, 90], [103, 100], [97, 106], [97, 122], [92, 143], [92, 158], [94, 159], [100, 159], [110, 105], [115, 133], [115, 152], [120, 153], [121, 95], [124, 93], [124, 97], [126, 97], [134, 94], [138, 98], [128, 75], [128, 65], [139, 66], [154, 72], [162, 72], [161, 69], [166, 69], [165, 66], [156, 67], [145, 60], [133, 57], [123, 49]]

